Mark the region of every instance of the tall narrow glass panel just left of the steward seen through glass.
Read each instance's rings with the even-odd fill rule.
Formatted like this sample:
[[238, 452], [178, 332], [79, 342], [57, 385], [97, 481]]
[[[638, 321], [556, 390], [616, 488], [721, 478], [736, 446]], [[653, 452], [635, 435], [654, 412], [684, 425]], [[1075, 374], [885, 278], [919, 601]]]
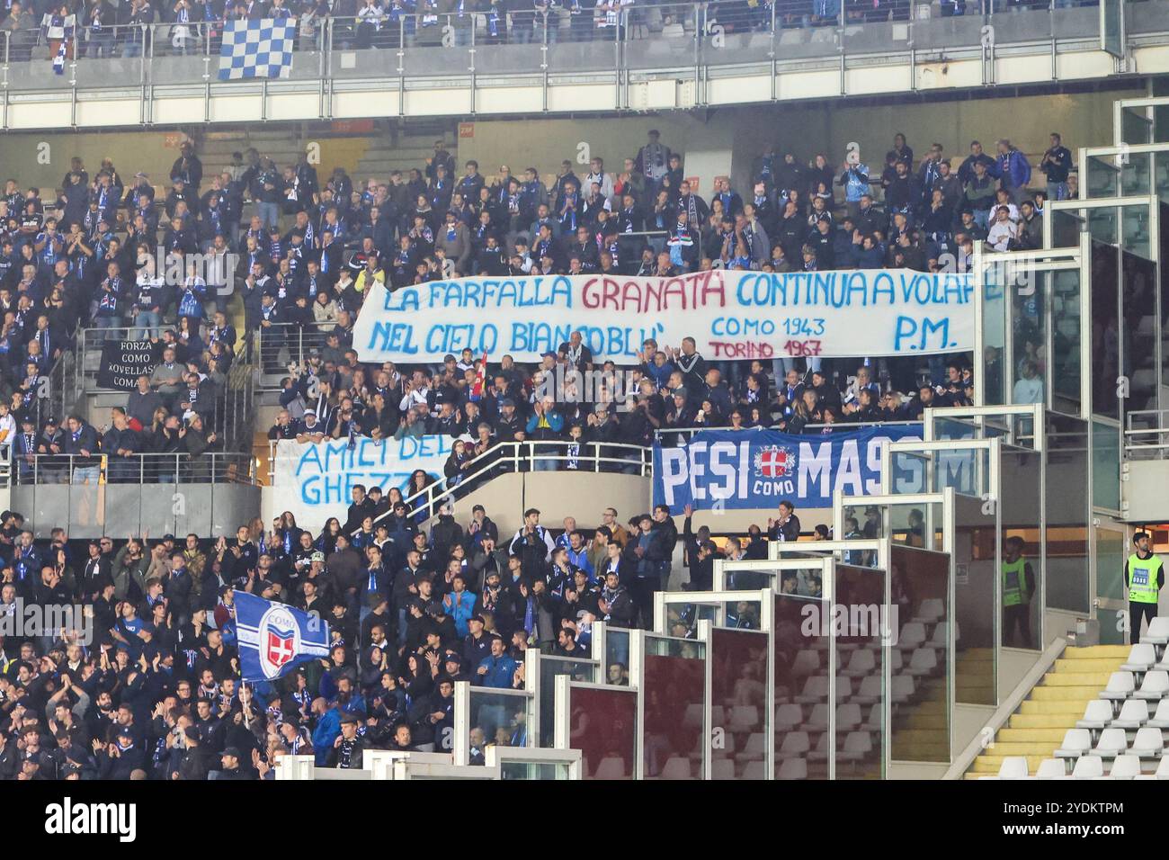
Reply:
[[997, 704], [995, 551], [998, 505], [954, 496], [954, 701]]

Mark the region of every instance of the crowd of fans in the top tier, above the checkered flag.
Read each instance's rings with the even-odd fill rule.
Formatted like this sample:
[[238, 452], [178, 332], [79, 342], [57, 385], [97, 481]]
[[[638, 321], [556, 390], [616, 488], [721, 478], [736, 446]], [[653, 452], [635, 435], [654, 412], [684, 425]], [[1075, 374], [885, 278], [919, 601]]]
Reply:
[[[1046, 9], [1049, 1], [998, 0], [994, 7]], [[911, 7], [909, 0], [844, 0], [843, 9], [842, 0], [719, 0], [698, 13], [691, 4], [645, 0], [14, 0], [4, 11], [0, 33], [8, 39], [11, 61], [58, 54], [72, 61], [217, 55], [226, 21], [256, 19], [292, 19], [299, 50], [319, 49], [326, 33], [333, 48], [350, 50], [465, 47], [472, 39], [477, 44], [556, 44], [669, 37], [684, 36], [696, 25], [710, 33], [715, 23], [720, 33], [770, 32], [773, 21], [775, 29], [831, 27], [842, 18], [858, 26], [905, 21]], [[984, 15], [990, 7], [991, 0], [941, 0], [936, 14]]]

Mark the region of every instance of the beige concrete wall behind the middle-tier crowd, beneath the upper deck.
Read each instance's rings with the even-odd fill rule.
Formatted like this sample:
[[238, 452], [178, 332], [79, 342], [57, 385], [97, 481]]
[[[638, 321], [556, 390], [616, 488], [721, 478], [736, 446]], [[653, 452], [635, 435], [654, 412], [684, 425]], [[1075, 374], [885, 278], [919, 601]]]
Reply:
[[[915, 96], [897, 99], [819, 99], [726, 106], [701, 111], [667, 111], [657, 115], [614, 118], [477, 119], [463, 124], [456, 158], [462, 164], [473, 158], [487, 178], [506, 164], [521, 174], [533, 166], [551, 178], [560, 161], [573, 160], [582, 174], [588, 159], [600, 156], [606, 168], [617, 172], [625, 157], [632, 157], [645, 143], [650, 129], [662, 132], [662, 142], [685, 154], [686, 177], [698, 177], [699, 191], [708, 195], [715, 177], [729, 173], [740, 193], [746, 193], [752, 163], [770, 144], [781, 152], [791, 151], [807, 163], [823, 153], [833, 168], [845, 147], [856, 142], [862, 158], [879, 171], [893, 135], [904, 132], [919, 156], [938, 142], [949, 156], [964, 157], [971, 139], [988, 146], [1009, 136], [1024, 152], [1039, 153], [1047, 147], [1047, 135], [1059, 131], [1073, 151], [1112, 142], [1112, 104], [1116, 98], [1143, 95], [1143, 89], [1115, 89], [1068, 95], [1016, 96], [1003, 98], [924, 101]], [[408, 121], [407, 121], [408, 122]], [[276, 126], [268, 125], [265, 129]], [[371, 145], [371, 137], [321, 138], [312, 126], [290, 128], [291, 138], [317, 140], [321, 146], [319, 170], [325, 176], [334, 166], [352, 171]], [[178, 157], [182, 135], [175, 131], [144, 132], [15, 132], [0, 137], [0, 163], [5, 178], [19, 178], [22, 185], [55, 188], [69, 168], [69, 159], [81, 156], [90, 172], [103, 157], [111, 157], [127, 180], [145, 170], [155, 184], [167, 179]], [[48, 164], [39, 158], [39, 144], [48, 144]], [[241, 147], [244, 145], [241, 132]], [[222, 146], [216, 146], [216, 150]], [[583, 159], [581, 161], [581, 159]], [[215, 157], [207, 172], [222, 166]], [[419, 165], [422, 166], [421, 164]], [[1042, 174], [1036, 181], [1042, 180]]]

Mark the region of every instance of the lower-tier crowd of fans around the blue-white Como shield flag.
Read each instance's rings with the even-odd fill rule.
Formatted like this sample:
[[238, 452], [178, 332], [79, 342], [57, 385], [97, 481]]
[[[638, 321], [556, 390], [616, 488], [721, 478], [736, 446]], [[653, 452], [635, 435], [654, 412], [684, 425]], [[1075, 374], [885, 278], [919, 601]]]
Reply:
[[[597, 620], [649, 628], [679, 542], [680, 587], [708, 590], [715, 557], [763, 558], [765, 537], [800, 537], [787, 502], [767, 530], [722, 549], [707, 527], [692, 529], [689, 509], [682, 535], [664, 507], [628, 523], [604, 508], [593, 529], [568, 517], [555, 531], [528, 510], [512, 536], [480, 505], [464, 523], [444, 505], [429, 530], [414, 514], [357, 487], [345, 522], [316, 537], [285, 512], [267, 531], [256, 520], [234, 537], [116, 546], [71, 542], [62, 528], [34, 541], [5, 511], [0, 779], [272, 778], [286, 754], [360, 768], [365, 749], [448, 751], [455, 681], [521, 689], [527, 648], [588, 658]], [[244, 683], [238, 590], [324, 618], [327, 659]], [[12, 626], [29, 606], [70, 605], [84, 622]], [[623, 682], [623, 667], [609, 680]], [[524, 742], [500, 728], [484, 737], [476, 725], [472, 762], [485, 743]]]

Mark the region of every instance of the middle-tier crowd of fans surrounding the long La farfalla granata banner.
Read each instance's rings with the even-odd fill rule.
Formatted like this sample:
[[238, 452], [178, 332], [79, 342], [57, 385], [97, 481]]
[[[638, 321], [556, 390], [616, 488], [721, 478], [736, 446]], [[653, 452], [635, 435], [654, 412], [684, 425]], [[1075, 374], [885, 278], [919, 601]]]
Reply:
[[[289, 415], [272, 438], [450, 433], [463, 438], [458, 456], [465, 456], [500, 439], [641, 445], [655, 431], [694, 424], [801, 431], [912, 418], [933, 394], [897, 392], [933, 387], [963, 403], [969, 370], [962, 363], [947, 369], [935, 357], [926, 376], [912, 359], [880, 359], [853, 374], [848, 362], [781, 358], [768, 374], [761, 364], [750, 372], [741, 363], [708, 367], [692, 340], [671, 350], [649, 342], [624, 386], [629, 410], [618, 418], [603, 384], [597, 394], [582, 377], [566, 381], [563, 369], [593, 369], [575, 336], [541, 367], [504, 357], [490, 385], [471, 395], [476, 369], [466, 352], [440, 369], [362, 367], [352, 330], [371, 285], [397, 289], [456, 275], [964, 269], [975, 241], [1033, 247], [1044, 200], [1077, 193], [1071, 153], [1058, 135], [1039, 165], [1046, 190], [1033, 194], [1026, 157], [1008, 140], [997, 150], [991, 157], [975, 142], [952, 171], [940, 145], [918, 163], [898, 135], [878, 176], [855, 157], [837, 173], [823, 156], [805, 166], [772, 147], [753, 166], [749, 194], [720, 178], [708, 202], [656, 131], [621, 172], [593, 158], [577, 176], [566, 160], [551, 185], [533, 167], [512, 176], [502, 166], [489, 181], [473, 160], [456, 178], [441, 142], [424, 167], [394, 171], [387, 183], [354, 187], [343, 168], [321, 183], [306, 156], [282, 170], [254, 150], [208, 183], [185, 142], [158, 201], [146, 174], [127, 183], [106, 159], [90, 177], [74, 159], [48, 200], [15, 180], [0, 199], [0, 352], [8, 359], [0, 365], [8, 403], [0, 412], [12, 415], [0, 415], [0, 432], [7, 422], [25, 469], [35, 454], [89, 457], [101, 449], [124, 460], [215, 449], [222, 440], [209, 419], [237, 349], [250, 353], [256, 331], [265, 370], [283, 370], [285, 348], [293, 359], [282, 394]], [[842, 190], [839, 204], [835, 188]], [[244, 226], [249, 205], [255, 214]], [[244, 311], [238, 338], [227, 317], [233, 291]], [[110, 335], [120, 329], [153, 340], [159, 353], [158, 366], [138, 380], [125, 414], [109, 427], [89, 428], [78, 417], [62, 428], [39, 412], [44, 376], [78, 326]], [[319, 348], [303, 349], [306, 335]], [[1043, 360], [1028, 358], [1033, 380]], [[556, 385], [541, 387], [545, 377]], [[574, 385], [592, 390], [573, 392]], [[805, 393], [812, 390], [815, 398]], [[91, 434], [103, 436], [97, 447]], [[82, 465], [87, 480], [89, 462]], [[129, 480], [132, 463], [125, 469]]]

